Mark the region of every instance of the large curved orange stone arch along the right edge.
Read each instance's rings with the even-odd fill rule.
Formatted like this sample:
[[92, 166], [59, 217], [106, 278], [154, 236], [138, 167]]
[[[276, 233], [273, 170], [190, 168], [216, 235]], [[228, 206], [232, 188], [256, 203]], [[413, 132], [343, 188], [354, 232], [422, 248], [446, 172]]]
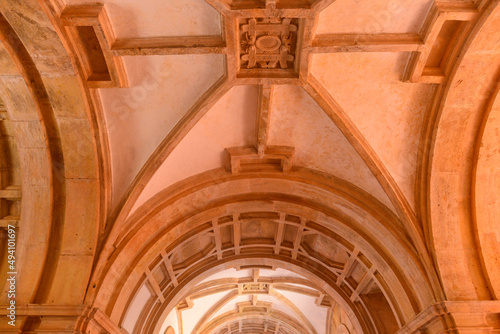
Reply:
[[[490, 300], [495, 295], [473, 213], [477, 203], [472, 176], [482, 143], [481, 124], [496, 96], [499, 54], [485, 45], [498, 36], [499, 15], [491, 3], [471, 32], [448, 84], [436, 95], [442, 102], [433, 111], [435, 133], [426, 144], [431, 157], [429, 236], [448, 300]], [[469, 66], [478, 58], [482, 61]]]

